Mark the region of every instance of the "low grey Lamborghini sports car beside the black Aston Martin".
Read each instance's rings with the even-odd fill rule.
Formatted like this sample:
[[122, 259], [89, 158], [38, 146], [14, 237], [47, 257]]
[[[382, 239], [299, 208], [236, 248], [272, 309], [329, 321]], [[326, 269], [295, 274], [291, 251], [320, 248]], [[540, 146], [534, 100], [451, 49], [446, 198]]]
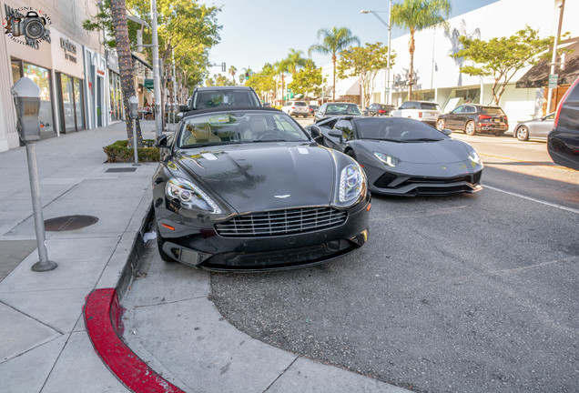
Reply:
[[307, 126], [321, 145], [356, 159], [371, 192], [397, 196], [474, 193], [483, 163], [474, 148], [418, 120], [331, 118]]

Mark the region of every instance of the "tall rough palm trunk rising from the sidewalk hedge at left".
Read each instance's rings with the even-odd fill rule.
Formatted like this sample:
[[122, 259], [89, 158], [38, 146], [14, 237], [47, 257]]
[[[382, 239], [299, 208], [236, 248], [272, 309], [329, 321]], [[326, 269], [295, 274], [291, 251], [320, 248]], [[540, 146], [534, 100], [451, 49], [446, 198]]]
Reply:
[[[113, 15], [113, 26], [115, 28], [115, 39], [117, 40], [118, 68], [121, 77], [121, 90], [123, 92], [123, 104], [125, 105], [125, 122], [127, 124], [128, 146], [133, 147], [133, 122], [128, 114], [128, 98], [135, 96], [135, 76], [133, 75], [133, 58], [131, 56], [130, 43], [128, 41], [127, 28], [127, 5], [125, 0], [111, 0], [111, 12]], [[137, 147], [143, 147], [143, 134], [139, 119], [137, 125]]]

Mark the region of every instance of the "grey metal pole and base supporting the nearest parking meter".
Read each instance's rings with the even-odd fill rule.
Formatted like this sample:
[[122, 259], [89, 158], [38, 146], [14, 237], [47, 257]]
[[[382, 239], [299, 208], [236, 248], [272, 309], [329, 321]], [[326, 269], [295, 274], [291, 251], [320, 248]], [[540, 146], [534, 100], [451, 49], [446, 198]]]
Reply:
[[28, 158], [28, 176], [30, 177], [30, 194], [32, 195], [32, 208], [35, 216], [36, 244], [40, 260], [32, 266], [34, 271], [48, 271], [56, 268], [56, 262], [48, 259], [46, 250], [45, 219], [42, 214], [42, 198], [40, 197], [40, 184], [38, 182], [38, 166], [36, 164], [36, 144], [26, 143], [26, 157]]

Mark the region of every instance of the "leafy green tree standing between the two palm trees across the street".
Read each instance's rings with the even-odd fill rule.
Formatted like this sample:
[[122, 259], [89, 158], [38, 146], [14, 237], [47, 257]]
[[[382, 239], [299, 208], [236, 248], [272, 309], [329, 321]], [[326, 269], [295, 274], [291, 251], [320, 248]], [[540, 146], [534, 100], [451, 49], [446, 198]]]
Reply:
[[[390, 57], [391, 64], [393, 64], [395, 55], [391, 54]], [[382, 46], [379, 42], [376, 44], [366, 43], [365, 46], [350, 46], [340, 52], [338, 77], [360, 77], [362, 105], [368, 106], [373, 93], [374, 79], [376, 79], [378, 72], [387, 66], [388, 46]]]

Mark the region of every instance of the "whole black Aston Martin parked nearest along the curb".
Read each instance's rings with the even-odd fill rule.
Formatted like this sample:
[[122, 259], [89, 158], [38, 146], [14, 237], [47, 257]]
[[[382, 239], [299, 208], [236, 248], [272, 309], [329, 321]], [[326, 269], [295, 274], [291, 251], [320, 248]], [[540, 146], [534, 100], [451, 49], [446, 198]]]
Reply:
[[280, 269], [343, 256], [368, 238], [361, 166], [277, 109], [190, 112], [157, 146], [153, 205], [164, 260]]

